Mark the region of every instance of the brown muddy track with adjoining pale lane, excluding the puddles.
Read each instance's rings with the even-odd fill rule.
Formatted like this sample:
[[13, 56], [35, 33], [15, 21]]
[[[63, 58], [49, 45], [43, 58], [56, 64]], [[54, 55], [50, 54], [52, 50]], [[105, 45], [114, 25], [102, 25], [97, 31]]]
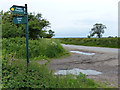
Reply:
[[71, 56], [52, 60], [48, 67], [50, 70], [64, 69], [91, 69], [102, 72], [101, 75], [88, 75], [88, 78], [93, 78], [99, 82], [106, 82], [110, 86], [118, 87], [118, 49], [86, 47], [76, 45], [65, 45], [63, 47], [69, 51], [84, 51], [94, 52], [95, 55], [82, 55], [71, 53]]

